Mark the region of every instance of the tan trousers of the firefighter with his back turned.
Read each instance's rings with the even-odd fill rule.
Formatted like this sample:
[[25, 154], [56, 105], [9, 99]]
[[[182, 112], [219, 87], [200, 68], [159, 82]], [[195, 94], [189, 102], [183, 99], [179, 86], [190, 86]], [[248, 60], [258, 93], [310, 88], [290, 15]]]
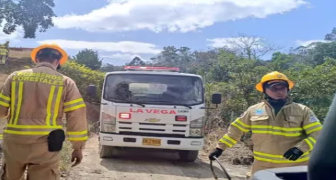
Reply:
[[59, 180], [59, 152], [49, 152], [47, 143], [16, 144], [3, 141], [1, 180]]

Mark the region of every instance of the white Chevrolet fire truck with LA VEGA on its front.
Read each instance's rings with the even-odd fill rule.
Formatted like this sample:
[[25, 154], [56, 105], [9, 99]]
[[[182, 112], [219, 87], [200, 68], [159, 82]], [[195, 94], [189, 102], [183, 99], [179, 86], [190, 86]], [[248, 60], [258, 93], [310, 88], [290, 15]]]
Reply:
[[[106, 73], [100, 105], [99, 154], [115, 157], [124, 147], [174, 149], [193, 162], [203, 147], [205, 100], [202, 77], [178, 68], [125, 67]], [[96, 94], [89, 85], [88, 94]], [[221, 102], [213, 94], [212, 103]]]

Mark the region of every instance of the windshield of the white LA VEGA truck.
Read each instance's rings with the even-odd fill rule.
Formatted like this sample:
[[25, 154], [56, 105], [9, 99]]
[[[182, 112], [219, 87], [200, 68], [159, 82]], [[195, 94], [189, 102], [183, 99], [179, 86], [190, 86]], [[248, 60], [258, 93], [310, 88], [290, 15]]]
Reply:
[[198, 105], [203, 103], [201, 78], [177, 75], [111, 74], [105, 81], [104, 99], [117, 103]]

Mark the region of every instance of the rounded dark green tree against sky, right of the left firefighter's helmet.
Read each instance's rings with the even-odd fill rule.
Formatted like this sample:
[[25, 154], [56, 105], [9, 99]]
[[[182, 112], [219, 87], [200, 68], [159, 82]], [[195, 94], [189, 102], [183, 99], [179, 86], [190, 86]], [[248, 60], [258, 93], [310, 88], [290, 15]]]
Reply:
[[93, 51], [92, 49], [85, 49], [78, 52], [78, 54], [74, 56], [73, 59], [92, 70], [99, 69], [102, 64], [102, 60], [99, 59], [98, 52]]

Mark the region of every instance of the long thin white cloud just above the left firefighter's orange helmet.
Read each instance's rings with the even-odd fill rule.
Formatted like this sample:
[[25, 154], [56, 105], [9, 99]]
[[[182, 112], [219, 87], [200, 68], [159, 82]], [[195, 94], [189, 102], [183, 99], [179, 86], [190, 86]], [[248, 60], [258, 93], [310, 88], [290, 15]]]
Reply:
[[161, 50], [154, 44], [141, 43], [134, 41], [120, 41], [120, 42], [88, 42], [88, 41], [72, 41], [72, 40], [43, 40], [38, 41], [39, 44], [55, 43], [65, 49], [94, 49], [107, 52], [122, 52], [122, 53], [147, 53], [157, 54]]

